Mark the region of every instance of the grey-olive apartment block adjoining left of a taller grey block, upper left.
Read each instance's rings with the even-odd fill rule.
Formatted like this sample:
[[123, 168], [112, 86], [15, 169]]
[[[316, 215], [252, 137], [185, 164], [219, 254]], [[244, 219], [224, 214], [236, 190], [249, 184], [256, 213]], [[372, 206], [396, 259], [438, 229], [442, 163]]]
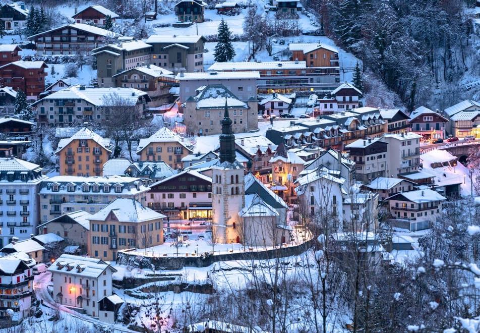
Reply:
[[113, 75], [150, 64], [151, 49], [152, 45], [142, 40], [119, 41], [93, 49], [92, 55], [97, 60], [98, 85], [114, 87]]

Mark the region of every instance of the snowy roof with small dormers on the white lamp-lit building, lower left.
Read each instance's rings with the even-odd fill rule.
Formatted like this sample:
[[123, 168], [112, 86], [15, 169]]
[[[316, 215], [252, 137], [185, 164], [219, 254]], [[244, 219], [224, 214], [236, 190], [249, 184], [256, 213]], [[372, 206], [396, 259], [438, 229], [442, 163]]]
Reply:
[[48, 271], [52, 274], [62, 272], [63, 274], [84, 276], [86, 278], [98, 278], [105, 269], [111, 269], [113, 272], [116, 272], [115, 268], [101, 259], [65, 253], [48, 267]]

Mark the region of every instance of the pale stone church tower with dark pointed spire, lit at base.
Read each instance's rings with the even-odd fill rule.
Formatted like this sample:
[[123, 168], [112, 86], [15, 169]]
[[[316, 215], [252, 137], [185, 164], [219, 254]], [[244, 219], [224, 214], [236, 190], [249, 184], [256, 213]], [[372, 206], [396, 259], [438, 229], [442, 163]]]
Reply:
[[212, 167], [212, 237], [216, 243], [227, 244], [242, 242], [238, 212], [245, 206], [244, 167], [236, 160], [231, 125], [225, 98], [220, 158]]

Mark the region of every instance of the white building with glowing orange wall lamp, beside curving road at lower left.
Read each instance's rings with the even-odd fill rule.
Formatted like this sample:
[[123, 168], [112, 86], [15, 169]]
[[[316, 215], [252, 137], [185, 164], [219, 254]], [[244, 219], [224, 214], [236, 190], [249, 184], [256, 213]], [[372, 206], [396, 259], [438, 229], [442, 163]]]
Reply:
[[48, 271], [52, 275], [53, 299], [67, 307], [83, 308], [98, 317], [99, 301], [112, 295], [112, 274], [116, 272], [101, 259], [62, 254]]

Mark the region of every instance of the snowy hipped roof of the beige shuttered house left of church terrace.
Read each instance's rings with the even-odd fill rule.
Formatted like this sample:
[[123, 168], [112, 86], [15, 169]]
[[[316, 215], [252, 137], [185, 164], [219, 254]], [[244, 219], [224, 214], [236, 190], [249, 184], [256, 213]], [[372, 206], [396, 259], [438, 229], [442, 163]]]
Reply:
[[88, 217], [88, 219], [104, 221], [110, 215], [110, 212], [113, 213], [120, 222], [139, 223], [166, 217], [155, 210], [143, 206], [135, 199], [117, 198]]

